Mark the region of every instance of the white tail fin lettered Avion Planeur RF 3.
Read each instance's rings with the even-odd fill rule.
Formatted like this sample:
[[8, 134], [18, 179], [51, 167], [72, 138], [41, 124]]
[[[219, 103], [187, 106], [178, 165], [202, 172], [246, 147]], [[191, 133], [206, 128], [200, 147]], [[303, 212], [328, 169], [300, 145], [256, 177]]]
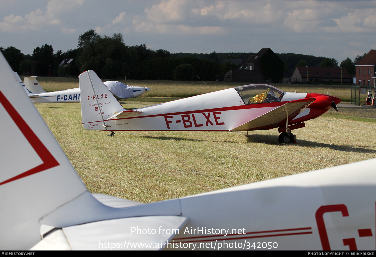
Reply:
[[78, 76], [81, 95], [82, 125], [85, 129], [111, 130], [106, 119], [124, 108], [93, 70]]

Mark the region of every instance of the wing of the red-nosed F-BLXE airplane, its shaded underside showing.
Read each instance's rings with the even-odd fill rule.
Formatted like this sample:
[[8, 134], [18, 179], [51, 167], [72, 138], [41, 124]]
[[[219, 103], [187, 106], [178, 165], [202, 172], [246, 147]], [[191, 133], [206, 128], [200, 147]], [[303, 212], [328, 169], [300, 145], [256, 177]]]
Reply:
[[230, 131], [246, 131], [246, 130], [252, 130], [258, 127], [264, 127], [267, 125], [277, 124], [283, 121], [284, 119], [286, 119], [287, 117], [286, 112], [288, 112], [289, 117], [296, 116], [300, 112], [302, 112], [305, 108], [307, 108], [311, 103], [313, 103], [315, 100], [316, 98], [311, 97], [311, 98], [303, 98], [303, 99], [299, 99], [295, 101], [290, 101]]

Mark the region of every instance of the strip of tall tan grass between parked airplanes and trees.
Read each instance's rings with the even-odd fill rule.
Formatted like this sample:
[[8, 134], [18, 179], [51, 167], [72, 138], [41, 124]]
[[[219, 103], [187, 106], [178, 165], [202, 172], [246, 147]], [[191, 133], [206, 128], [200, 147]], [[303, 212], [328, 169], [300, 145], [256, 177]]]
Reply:
[[[38, 82], [47, 92], [78, 88], [78, 79], [68, 79], [61, 77], [38, 77]], [[103, 80], [106, 81], [106, 80]], [[125, 80], [119, 80], [125, 83]], [[170, 97], [184, 98], [193, 95], [209, 93], [227, 88], [244, 85], [245, 83], [235, 82], [212, 82], [206, 81], [171, 81], [171, 80], [127, 80], [130, 86], [143, 86], [152, 90], [146, 92], [143, 97]], [[351, 102], [351, 86], [349, 85], [303, 85], [303, 84], [276, 84], [270, 85], [281, 89], [284, 92], [298, 93], [319, 93], [329, 94], [340, 98], [343, 102]], [[356, 95], [358, 99], [359, 95]], [[365, 103], [367, 95], [361, 95], [361, 104]]]

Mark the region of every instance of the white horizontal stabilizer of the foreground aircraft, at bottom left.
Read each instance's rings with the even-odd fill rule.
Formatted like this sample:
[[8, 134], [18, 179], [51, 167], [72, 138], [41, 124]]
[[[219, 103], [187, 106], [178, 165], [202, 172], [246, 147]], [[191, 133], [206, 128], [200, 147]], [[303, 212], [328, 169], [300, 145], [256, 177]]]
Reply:
[[59, 249], [72, 250], [161, 250], [168, 243], [172, 248], [171, 240], [188, 221], [180, 216], [145, 216], [91, 222], [62, 228], [64, 233], [57, 230], [32, 250], [53, 249], [55, 241]]

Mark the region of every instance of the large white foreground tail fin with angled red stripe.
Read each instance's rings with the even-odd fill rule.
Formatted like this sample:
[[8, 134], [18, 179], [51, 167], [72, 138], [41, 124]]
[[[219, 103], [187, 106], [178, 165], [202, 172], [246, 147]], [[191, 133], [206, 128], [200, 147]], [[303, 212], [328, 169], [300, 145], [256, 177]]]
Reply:
[[89, 192], [1, 53], [0, 77], [0, 249], [29, 249], [43, 216]]

